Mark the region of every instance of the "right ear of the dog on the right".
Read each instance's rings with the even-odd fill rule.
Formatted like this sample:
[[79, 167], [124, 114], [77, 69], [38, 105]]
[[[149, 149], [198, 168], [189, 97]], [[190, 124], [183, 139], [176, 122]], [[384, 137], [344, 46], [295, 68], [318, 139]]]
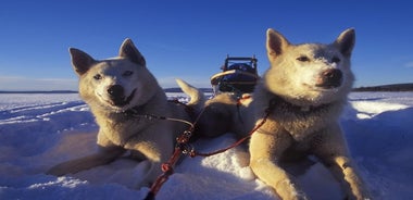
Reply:
[[355, 45], [355, 30], [354, 28], [349, 28], [342, 32], [334, 45], [340, 50], [340, 52], [346, 57], [351, 57]]

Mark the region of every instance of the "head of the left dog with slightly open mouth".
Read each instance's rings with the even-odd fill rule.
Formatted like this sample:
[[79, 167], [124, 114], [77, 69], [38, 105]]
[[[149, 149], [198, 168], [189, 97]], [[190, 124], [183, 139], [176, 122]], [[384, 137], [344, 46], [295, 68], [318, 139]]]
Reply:
[[70, 53], [79, 76], [79, 93], [90, 105], [124, 111], [145, 102], [146, 92], [151, 92], [143, 88], [153, 82], [152, 75], [130, 39], [122, 43], [118, 57], [113, 59], [98, 61], [75, 48]]

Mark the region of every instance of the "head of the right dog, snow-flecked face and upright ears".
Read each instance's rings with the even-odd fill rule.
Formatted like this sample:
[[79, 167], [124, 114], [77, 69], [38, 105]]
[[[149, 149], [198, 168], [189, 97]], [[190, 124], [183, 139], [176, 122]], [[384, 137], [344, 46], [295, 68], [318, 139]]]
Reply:
[[350, 70], [354, 29], [342, 32], [328, 45], [291, 45], [281, 34], [267, 30], [270, 70], [264, 85], [298, 105], [317, 105], [343, 99], [352, 88]]

